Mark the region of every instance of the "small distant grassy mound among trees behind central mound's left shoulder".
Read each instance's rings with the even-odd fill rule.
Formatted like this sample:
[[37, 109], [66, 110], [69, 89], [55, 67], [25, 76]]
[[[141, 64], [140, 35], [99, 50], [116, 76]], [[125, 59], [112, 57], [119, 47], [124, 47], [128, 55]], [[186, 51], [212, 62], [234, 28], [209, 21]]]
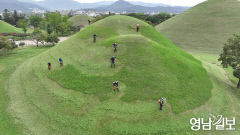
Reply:
[[69, 18], [69, 21], [73, 24], [73, 26], [88, 25], [88, 20], [92, 20], [92, 17], [87, 15], [76, 15]]

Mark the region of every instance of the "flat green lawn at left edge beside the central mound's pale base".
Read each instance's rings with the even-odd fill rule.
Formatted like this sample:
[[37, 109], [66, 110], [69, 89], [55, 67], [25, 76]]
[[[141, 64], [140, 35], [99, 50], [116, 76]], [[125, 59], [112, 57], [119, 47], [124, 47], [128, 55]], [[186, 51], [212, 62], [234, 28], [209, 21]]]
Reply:
[[[22, 62], [47, 49], [49, 48], [14, 49], [5, 54], [0, 54], [0, 134], [21, 135], [23, 128], [16, 124], [14, 117], [8, 113], [9, 97], [7, 89], [5, 89], [7, 79]], [[14, 84], [11, 83], [11, 85]]]

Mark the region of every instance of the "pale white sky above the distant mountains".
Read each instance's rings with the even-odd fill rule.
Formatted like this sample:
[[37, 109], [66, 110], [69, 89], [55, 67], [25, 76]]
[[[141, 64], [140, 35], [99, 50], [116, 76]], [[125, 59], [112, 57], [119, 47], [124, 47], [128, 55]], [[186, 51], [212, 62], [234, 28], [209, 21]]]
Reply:
[[[103, 0], [75, 0], [81, 3], [99, 2]], [[106, 1], [106, 0], [105, 0]], [[206, 0], [126, 0], [126, 1], [141, 1], [146, 3], [163, 3], [172, 6], [194, 6]]]

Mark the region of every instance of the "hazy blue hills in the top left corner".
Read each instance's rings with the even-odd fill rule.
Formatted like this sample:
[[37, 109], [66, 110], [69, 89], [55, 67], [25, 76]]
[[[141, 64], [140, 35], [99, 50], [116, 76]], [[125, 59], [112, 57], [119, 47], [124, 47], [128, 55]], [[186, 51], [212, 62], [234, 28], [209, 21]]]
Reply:
[[0, 11], [3, 11], [4, 9], [9, 9], [9, 10], [21, 10], [23, 12], [32, 12], [33, 8], [45, 10], [39, 5], [32, 3], [20, 2], [17, 0], [0, 0]]

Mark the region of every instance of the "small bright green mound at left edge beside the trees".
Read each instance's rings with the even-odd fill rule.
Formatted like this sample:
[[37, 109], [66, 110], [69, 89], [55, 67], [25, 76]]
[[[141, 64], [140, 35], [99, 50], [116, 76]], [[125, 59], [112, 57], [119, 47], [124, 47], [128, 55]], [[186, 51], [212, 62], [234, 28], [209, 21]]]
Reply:
[[9, 33], [9, 32], [20, 33], [22, 31], [21, 31], [21, 29], [16, 28], [16, 27], [0, 20], [0, 33]]

